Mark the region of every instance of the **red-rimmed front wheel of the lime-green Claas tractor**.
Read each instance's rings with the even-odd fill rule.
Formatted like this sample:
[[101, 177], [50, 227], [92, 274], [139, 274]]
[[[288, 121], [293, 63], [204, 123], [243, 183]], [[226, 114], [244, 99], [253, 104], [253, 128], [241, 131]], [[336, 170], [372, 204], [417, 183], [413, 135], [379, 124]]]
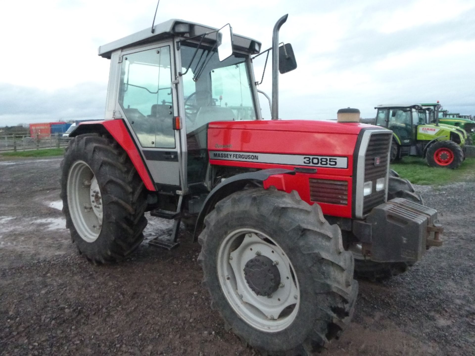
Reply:
[[464, 151], [454, 141], [437, 141], [429, 146], [426, 159], [431, 167], [457, 169], [464, 161]]

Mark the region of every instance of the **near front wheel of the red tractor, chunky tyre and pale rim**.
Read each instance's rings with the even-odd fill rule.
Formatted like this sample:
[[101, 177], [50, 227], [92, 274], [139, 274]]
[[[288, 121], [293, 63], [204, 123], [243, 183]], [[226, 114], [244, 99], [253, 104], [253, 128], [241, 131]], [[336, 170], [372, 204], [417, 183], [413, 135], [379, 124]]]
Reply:
[[203, 284], [227, 329], [266, 355], [309, 355], [340, 335], [358, 283], [339, 227], [317, 204], [247, 189], [221, 200], [205, 224]]

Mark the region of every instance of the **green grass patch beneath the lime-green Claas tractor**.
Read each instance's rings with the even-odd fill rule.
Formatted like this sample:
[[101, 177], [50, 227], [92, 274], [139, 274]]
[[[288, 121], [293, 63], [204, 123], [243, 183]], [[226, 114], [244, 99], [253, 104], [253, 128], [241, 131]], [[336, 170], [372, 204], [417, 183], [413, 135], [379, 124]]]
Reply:
[[391, 168], [398, 172], [401, 178], [420, 185], [442, 185], [475, 180], [475, 158], [467, 158], [458, 169], [447, 169], [429, 167], [427, 161], [419, 157], [404, 157], [398, 163], [391, 164]]

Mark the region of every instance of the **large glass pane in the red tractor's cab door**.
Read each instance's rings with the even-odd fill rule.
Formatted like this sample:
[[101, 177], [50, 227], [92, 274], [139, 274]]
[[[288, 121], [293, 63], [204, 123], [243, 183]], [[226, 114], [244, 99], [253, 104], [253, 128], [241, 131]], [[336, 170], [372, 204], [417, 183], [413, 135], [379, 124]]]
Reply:
[[142, 147], [175, 147], [170, 46], [123, 56], [119, 103]]

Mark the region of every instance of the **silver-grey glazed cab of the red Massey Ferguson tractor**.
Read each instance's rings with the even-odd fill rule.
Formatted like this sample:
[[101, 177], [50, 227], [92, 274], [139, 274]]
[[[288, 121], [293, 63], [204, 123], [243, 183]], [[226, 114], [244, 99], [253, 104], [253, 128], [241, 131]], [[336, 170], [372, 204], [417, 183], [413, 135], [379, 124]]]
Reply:
[[[287, 46], [277, 50], [281, 73], [295, 62]], [[177, 19], [101, 46], [111, 60], [105, 120], [123, 119], [156, 184], [207, 189], [208, 124], [262, 119], [252, 69], [260, 50], [229, 24]]]

